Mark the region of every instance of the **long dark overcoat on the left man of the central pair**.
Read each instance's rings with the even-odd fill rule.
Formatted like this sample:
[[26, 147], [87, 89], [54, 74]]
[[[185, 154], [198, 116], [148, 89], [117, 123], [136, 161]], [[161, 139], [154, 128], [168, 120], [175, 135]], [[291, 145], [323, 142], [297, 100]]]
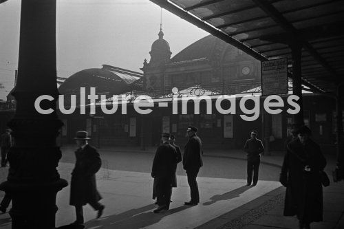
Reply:
[[174, 166], [176, 161], [175, 148], [168, 142], [160, 145], [155, 151], [151, 176], [153, 182], [153, 199], [156, 197], [157, 188], [173, 184], [175, 176]]

